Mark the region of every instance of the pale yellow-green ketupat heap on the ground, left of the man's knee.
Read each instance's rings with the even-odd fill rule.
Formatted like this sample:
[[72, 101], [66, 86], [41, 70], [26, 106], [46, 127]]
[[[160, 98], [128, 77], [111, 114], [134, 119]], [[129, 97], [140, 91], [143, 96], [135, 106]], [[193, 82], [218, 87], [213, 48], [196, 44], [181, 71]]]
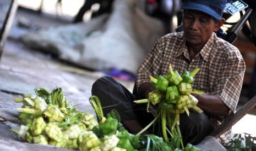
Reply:
[[[93, 114], [78, 111], [66, 100], [61, 88], [52, 92], [44, 88], [35, 88], [36, 95], [24, 94], [23, 98], [15, 98], [15, 102], [23, 103], [18, 108], [20, 127], [18, 135], [23, 141], [68, 149], [90, 149], [98, 146], [99, 139], [91, 135], [92, 128], [99, 125]], [[79, 139], [80, 138], [80, 139]], [[81, 139], [83, 138], [83, 139]]]

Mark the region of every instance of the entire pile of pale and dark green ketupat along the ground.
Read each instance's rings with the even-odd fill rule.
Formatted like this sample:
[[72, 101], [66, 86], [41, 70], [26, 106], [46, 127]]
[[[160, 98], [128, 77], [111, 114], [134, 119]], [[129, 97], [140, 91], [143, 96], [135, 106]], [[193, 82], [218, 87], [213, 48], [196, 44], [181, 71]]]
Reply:
[[45, 144], [75, 150], [200, 150], [191, 144], [180, 148], [179, 138], [165, 142], [155, 135], [133, 135], [120, 123], [117, 111], [104, 117], [99, 98], [89, 98], [93, 114], [75, 109], [61, 88], [52, 92], [35, 88], [36, 95], [15, 98], [18, 108], [19, 137], [29, 143]]

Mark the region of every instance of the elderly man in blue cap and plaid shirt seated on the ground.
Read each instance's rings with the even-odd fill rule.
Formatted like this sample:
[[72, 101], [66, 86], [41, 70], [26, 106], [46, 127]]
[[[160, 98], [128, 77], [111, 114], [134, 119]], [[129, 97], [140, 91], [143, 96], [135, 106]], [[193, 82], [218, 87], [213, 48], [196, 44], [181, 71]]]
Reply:
[[[165, 75], [171, 64], [179, 73], [200, 68], [192, 87], [203, 90], [204, 95], [193, 94], [203, 113], [190, 111], [181, 114], [180, 128], [184, 144], [197, 144], [231, 115], [238, 103], [243, 84], [245, 64], [239, 50], [216, 36], [215, 32], [225, 23], [222, 14], [226, 0], [186, 0], [181, 9], [183, 32], [169, 33], [159, 38], [150, 53], [138, 67], [134, 97], [121, 84], [109, 77], [102, 77], [92, 86], [92, 95], [100, 98], [104, 112], [115, 108], [127, 130], [139, 132], [156, 115], [156, 107], [147, 113], [143, 105], [132, 106], [134, 99], [148, 98], [154, 90], [149, 76]], [[131, 109], [132, 106], [132, 109]], [[231, 130], [218, 140], [229, 141]]]

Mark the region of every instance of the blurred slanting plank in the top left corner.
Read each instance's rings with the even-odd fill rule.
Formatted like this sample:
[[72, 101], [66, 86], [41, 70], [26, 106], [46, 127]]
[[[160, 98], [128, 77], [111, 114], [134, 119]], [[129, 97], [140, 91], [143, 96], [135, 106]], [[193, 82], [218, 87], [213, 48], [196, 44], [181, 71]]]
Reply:
[[3, 52], [4, 43], [6, 42], [6, 39], [9, 34], [9, 30], [12, 27], [17, 8], [18, 8], [18, 0], [12, 0], [10, 2], [10, 7], [6, 14], [6, 18], [4, 19], [3, 27], [0, 30], [0, 59]]

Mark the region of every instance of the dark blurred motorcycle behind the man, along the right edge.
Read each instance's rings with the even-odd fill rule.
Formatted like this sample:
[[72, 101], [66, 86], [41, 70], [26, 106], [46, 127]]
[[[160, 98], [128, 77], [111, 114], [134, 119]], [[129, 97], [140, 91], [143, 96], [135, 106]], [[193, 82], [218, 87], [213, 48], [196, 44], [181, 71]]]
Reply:
[[[245, 36], [251, 39], [256, 47], [256, 1], [253, 0], [238, 0], [228, 1], [225, 10], [230, 14], [230, 18], [239, 12], [240, 19], [233, 22], [226, 33], [219, 31], [219, 37], [225, 39], [227, 42], [235, 42], [239, 32], [243, 32]], [[225, 17], [225, 16], [224, 16]], [[226, 23], [228, 25], [228, 22]], [[256, 48], [255, 48], [256, 50]], [[253, 74], [251, 82], [248, 86], [248, 98], [256, 95], [256, 61], [254, 63]]]

